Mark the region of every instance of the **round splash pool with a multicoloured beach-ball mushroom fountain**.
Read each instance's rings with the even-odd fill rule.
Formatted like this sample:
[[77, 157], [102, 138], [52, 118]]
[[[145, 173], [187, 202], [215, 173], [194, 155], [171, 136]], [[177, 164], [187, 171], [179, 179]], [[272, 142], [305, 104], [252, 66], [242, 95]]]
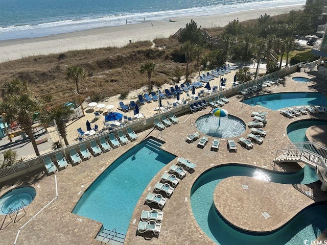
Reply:
[[216, 117], [212, 114], [200, 116], [195, 122], [195, 127], [201, 133], [218, 138], [236, 137], [243, 134], [246, 129], [244, 121], [236, 116]]

